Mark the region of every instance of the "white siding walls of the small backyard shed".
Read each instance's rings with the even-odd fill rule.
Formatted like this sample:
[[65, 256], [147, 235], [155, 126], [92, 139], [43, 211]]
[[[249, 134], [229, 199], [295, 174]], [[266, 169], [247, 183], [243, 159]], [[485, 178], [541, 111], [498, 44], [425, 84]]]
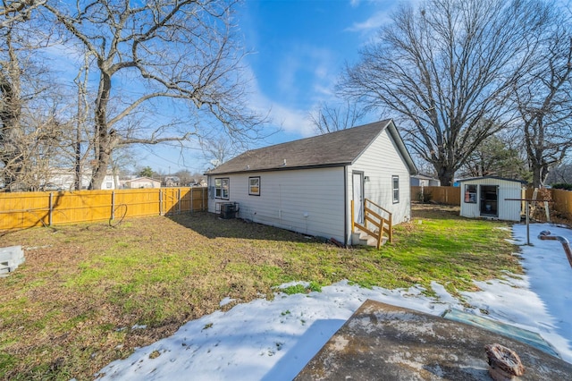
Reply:
[[[481, 211], [481, 187], [495, 186], [497, 187], [498, 199], [498, 216], [500, 220], [520, 221], [522, 212], [522, 202], [511, 201], [507, 199], [522, 199], [523, 187], [521, 182], [495, 179], [495, 178], [479, 178], [460, 182], [461, 184], [461, 210], [460, 215], [469, 218], [487, 217]], [[467, 202], [467, 185], [476, 186], [476, 202]]]

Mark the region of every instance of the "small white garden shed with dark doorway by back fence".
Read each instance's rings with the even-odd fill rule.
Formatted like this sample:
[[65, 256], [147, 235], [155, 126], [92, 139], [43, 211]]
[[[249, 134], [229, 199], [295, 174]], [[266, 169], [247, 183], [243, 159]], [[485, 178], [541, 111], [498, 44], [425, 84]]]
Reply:
[[460, 180], [459, 183], [461, 216], [520, 221], [523, 203], [514, 199], [524, 199], [526, 182], [484, 176]]

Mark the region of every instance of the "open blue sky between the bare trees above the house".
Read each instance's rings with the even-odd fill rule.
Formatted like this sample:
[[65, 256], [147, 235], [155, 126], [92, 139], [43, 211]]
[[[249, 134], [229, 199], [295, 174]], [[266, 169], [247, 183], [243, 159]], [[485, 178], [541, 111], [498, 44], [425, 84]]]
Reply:
[[[246, 0], [237, 14], [240, 34], [251, 52], [244, 64], [250, 81], [251, 105], [270, 110], [265, 142], [280, 143], [315, 135], [307, 114], [333, 99], [333, 86], [346, 62], [388, 22], [398, 1]], [[153, 151], [153, 153], [150, 152]], [[208, 162], [197, 149], [140, 149], [139, 165], [167, 173], [203, 171]]]

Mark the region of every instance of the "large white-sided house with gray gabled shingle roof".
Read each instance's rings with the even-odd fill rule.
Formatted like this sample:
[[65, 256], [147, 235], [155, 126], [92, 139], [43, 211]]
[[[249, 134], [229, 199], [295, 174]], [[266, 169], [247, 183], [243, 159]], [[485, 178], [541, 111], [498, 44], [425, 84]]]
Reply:
[[366, 199], [391, 212], [394, 224], [410, 218], [415, 173], [395, 124], [385, 120], [234, 157], [207, 173], [208, 210], [234, 204], [241, 218], [352, 244]]

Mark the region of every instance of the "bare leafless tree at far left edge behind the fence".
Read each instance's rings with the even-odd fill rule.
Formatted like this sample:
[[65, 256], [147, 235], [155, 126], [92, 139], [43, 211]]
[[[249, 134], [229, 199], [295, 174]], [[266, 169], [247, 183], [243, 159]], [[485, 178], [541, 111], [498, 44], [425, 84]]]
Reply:
[[63, 96], [37, 57], [51, 36], [33, 17], [42, 3], [4, 1], [0, 11], [0, 174], [9, 190], [40, 188], [69, 145]]

